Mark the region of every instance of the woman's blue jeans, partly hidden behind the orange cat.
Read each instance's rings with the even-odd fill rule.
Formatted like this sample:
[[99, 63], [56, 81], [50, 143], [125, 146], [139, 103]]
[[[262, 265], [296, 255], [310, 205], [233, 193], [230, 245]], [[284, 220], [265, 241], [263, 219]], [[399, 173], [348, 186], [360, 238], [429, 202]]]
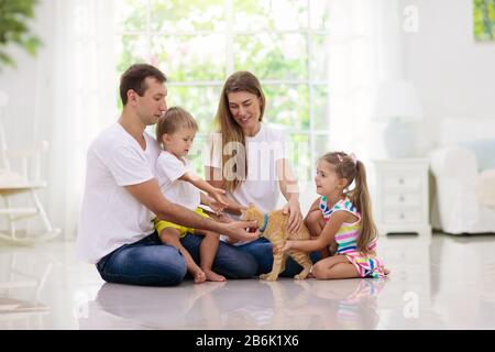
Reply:
[[[241, 244], [238, 246], [244, 253], [249, 253], [256, 258], [257, 272], [256, 275], [266, 274], [272, 271], [273, 266], [273, 246], [272, 243], [264, 239], [257, 239], [253, 242]], [[312, 252], [310, 254], [312, 263], [320, 260], [320, 254], [318, 252]], [[285, 263], [285, 271], [280, 273], [283, 277], [294, 277], [302, 271], [302, 266], [296, 263], [292, 257], [287, 258]]]

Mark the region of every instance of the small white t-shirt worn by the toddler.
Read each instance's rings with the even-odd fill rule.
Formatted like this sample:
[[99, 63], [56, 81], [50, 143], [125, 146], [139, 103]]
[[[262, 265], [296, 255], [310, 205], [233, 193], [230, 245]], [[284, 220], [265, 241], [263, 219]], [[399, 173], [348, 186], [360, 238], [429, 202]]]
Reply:
[[190, 183], [178, 179], [187, 172], [195, 174], [189, 161], [183, 162], [167, 151], [160, 153], [156, 161], [156, 179], [160, 190], [172, 202], [194, 211], [201, 201], [200, 191]]

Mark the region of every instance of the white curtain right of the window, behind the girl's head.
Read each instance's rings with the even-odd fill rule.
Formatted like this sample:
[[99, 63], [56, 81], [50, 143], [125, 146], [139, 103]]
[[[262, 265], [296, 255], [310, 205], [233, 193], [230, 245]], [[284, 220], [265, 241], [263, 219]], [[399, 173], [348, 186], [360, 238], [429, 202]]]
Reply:
[[329, 13], [329, 147], [365, 161], [383, 153], [376, 88], [403, 75], [402, 12], [396, 0], [332, 0]]

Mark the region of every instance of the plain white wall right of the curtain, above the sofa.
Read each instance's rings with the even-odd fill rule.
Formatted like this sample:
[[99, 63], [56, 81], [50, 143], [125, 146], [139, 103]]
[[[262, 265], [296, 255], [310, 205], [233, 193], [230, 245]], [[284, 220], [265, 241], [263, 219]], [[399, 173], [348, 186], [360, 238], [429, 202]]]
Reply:
[[435, 143], [447, 117], [495, 119], [495, 42], [473, 37], [472, 0], [400, 0], [419, 11], [417, 33], [403, 32], [405, 77], [419, 90]]

